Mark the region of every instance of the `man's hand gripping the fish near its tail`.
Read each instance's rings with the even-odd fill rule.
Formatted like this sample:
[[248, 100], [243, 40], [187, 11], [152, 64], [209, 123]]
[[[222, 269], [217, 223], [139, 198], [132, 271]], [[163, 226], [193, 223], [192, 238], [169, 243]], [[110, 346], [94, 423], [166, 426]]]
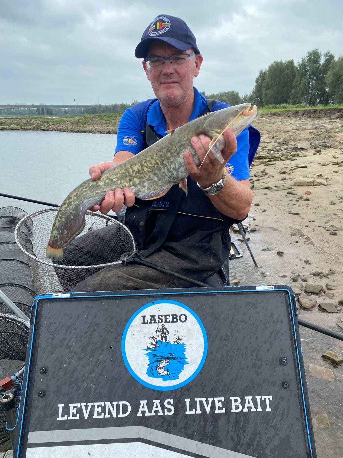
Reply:
[[[92, 165], [89, 168], [89, 174], [93, 181], [98, 180], [105, 170], [111, 169], [118, 165], [116, 162], [108, 161], [101, 162], [100, 164]], [[127, 207], [132, 207], [134, 205], [134, 193], [129, 188], [125, 188], [124, 192], [118, 188], [114, 192], [107, 191], [105, 199], [101, 202], [100, 205], [95, 205], [91, 208], [92, 212], [97, 212], [98, 210], [103, 215], [106, 215], [111, 209], [113, 212], [119, 212], [123, 205]]]

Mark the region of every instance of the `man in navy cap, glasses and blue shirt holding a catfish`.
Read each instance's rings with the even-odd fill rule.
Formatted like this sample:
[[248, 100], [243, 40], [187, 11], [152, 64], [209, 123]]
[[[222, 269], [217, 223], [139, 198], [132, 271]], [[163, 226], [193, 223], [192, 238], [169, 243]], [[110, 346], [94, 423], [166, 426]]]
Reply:
[[[180, 18], [161, 15], [145, 29], [135, 56], [143, 58], [143, 68], [156, 99], [127, 109], [118, 126], [113, 162], [91, 166], [92, 180], [110, 167], [129, 159], [145, 147], [189, 120], [227, 104], [207, 101], [193, 87], [203, 61], [196, 39]], [[193, 137], [192, 146], [200, 161], [197, 166], [190, 152], [184, 153], [187, 166], [188, 196], [172, 186], [165, 196], [142, 201], [125, 188], [108, 191], [100, 206], [106, 214], [127, 206], [125, 224], [134, 234], [139, 256], [200, 281], [220, 269], [230, 253], [229, 228], [247, 217], [252, 203], [249, 165], [257, 150], [259, 133], [250, 127], [237, 138], [230, 128], [224, 132], [222, 155], [230, 163], [223, 166], [209, 153], [209, 138]], [[238, 149], [237, 149], [238, 144]], [[172, 167], [172, 164], [170, 164]], [[172, 207], [172, 208], [171, 208]], [[76, 239], [77, 240], [77, 239]], [[105, 262], [105, 261], [104, 261]], [[153, 289], [186, 286], [187, 282], [141, 265], [107, 267], [80, 284], [75, 291]]]

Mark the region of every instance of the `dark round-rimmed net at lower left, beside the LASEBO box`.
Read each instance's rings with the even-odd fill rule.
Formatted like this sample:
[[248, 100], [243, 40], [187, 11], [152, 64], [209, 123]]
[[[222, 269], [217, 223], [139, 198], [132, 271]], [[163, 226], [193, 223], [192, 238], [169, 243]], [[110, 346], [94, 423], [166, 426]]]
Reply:
[[[29, 327], [24, 320], [12, 315], [0, 314], [0, 379], [12, 376], [23, 366], [28, 333]], [[19, 382], [22, 382], [22, 378], [19, 378]], [[19, 383], [13, 383], [12, 388], [17, 390], [16, 409], [18, 409], [21, 394]], [[0, 410], [0, 442], [9, 439], [5, 424], [6, 414]]]

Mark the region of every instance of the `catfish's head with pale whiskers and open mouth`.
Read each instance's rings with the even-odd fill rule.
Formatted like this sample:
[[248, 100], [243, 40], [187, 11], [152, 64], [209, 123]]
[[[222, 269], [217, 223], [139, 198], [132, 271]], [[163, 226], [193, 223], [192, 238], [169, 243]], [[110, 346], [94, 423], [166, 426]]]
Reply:
[[213, 138], [220, 136], [227, 127], [231, 127], [237, 136], [255, 118], [257, 114], [256, 105], [240, 104], [223, 108], [206, 114], [204, 122], [204, 133]]

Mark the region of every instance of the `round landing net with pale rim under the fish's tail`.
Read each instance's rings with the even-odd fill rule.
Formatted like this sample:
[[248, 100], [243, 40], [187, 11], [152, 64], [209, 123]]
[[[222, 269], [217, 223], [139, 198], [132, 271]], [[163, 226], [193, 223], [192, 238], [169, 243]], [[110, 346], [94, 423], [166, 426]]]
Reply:
[[[63, 260], [53, 262], [45, 256], [45, 249], [57, 211], [53, 208], [27, 215], [15, 229], [16, 243], [27, 255], [32, 275], [32, 286], [28, 281], [25, 286], [38, 294], [68, 292], [104, 267], [120, 264], [137, 253], [134, 237], [123, 224], [108, 216], [87, 212], [84, 230], [63, 249]], [[16, 262], [22, 273], [21, 261]]]

